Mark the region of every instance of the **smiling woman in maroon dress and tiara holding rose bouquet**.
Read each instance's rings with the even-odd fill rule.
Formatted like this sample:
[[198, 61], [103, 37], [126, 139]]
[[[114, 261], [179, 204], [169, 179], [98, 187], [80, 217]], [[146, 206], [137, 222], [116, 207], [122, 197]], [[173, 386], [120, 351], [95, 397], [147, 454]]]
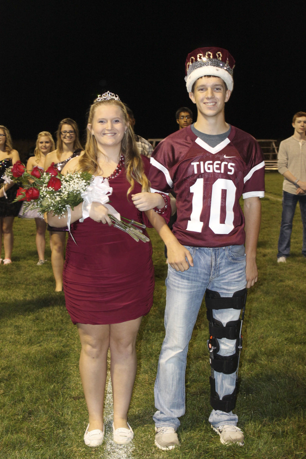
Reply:
[[[131, 200], [131, 193], [148, 190], [150, 164], [136, 148], [125, 106], [116, 99], [118, 96], [112, 96], [105, 93], [91, 106], [84, 154], [71, 159], [63, 173], [88, 171], [108, 178], [113, 188], [110, 203], [117, 212], [140, 223], [147, 223], [148, 217], [155, 224], [163, 218], [153, 211], [148, 211], [146, 217]], [[162, 209], [164, 198], [159, 196], [158, 209]], [[102, 204], [93, 202], [87, 209], [88, 218], [82, 207], [79, 204], [71, 210], [71, 232], [76, 243], [69, 237], [63, 286], [66, 307], [78, 327], [82, 346], [79, 369], [89, 412], [84, 441], [89, 446], [103, 441], [109, 348], [113, 436], [115, 442], [123, 444], [134, 437], [127, 412], [136, 376], [136, 336], [142, 316], [153, 303], [152, 246], [114, 228], [110, 211]], [[82, 215], [83, 223], [79, 221]], [[49, 214], [48, 222], [60, 226], [67, 223], [67, 218], [59, 220]]]

